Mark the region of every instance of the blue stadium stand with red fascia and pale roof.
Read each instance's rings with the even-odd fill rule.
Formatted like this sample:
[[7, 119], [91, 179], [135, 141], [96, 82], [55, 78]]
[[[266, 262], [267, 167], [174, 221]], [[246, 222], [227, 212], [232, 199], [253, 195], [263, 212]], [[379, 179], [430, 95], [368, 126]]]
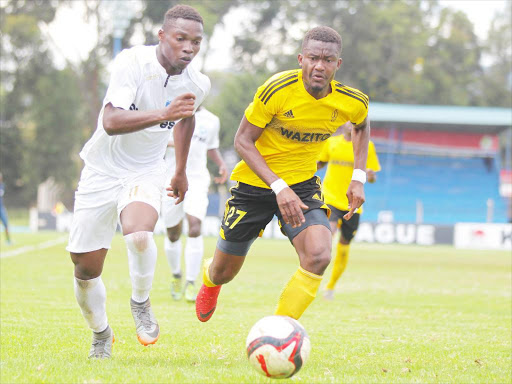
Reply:
[[500, 171], [510, 168], [499, 156], [510, 109], [373, 103], [370, 119], [382, 171], [365, 189], [363, 220], [382, 213], [398, 223], [510, 220], [499, 193]]

